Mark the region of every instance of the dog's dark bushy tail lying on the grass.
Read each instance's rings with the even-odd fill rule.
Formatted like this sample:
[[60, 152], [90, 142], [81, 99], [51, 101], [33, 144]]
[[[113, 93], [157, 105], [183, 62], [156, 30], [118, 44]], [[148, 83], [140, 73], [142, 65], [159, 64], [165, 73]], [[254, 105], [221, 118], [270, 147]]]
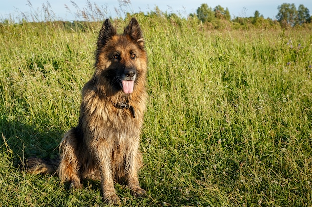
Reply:
[[31, 157], [26, 160], [25, 170], [26, 172], [33, 174], [54, 174], [60, 164], [60, 158], [48, 159]]

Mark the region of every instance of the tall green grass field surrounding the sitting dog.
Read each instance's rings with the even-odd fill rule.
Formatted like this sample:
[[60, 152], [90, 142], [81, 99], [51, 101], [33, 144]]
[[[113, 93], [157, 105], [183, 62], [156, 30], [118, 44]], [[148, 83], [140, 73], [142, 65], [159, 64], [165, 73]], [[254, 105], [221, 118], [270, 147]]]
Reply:
[[[129, 207], [312, 207], [312, 32], [207, 30], [137, 16], [149, 58], [140, 182]], [[116, 20], [119, 30], [125, 21]], [[0, 27], [0, 206], [105, 206], [99, 182], [30, 175], [78, 122], [101, 22]]]

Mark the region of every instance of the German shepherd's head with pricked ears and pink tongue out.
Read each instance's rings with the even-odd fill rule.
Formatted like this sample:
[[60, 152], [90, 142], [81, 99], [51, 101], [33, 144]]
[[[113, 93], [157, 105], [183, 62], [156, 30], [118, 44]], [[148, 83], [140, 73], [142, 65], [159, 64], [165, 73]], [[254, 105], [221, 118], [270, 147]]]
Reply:
[[139, 79], [145, 78], [147, 56], [142, 31], [135, 18], [130, 20], [123, 34], [117, 34], [106, 19], [95, 55], [96, 78], [107, 89], [132, 93]]

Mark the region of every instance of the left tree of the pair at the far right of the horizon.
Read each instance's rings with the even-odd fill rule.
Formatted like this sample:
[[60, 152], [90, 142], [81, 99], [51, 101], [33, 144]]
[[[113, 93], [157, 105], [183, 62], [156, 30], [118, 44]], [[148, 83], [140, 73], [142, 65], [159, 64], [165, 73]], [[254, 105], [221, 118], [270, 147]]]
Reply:
[[294, 26], [297, 22], [297, 9], [295, 4], [292, 3], [283, 3], [282, 5], [277, 7], [279, 12], [276, 15], [276, 19], [282, 25], [287, 24], [290, 26]]

